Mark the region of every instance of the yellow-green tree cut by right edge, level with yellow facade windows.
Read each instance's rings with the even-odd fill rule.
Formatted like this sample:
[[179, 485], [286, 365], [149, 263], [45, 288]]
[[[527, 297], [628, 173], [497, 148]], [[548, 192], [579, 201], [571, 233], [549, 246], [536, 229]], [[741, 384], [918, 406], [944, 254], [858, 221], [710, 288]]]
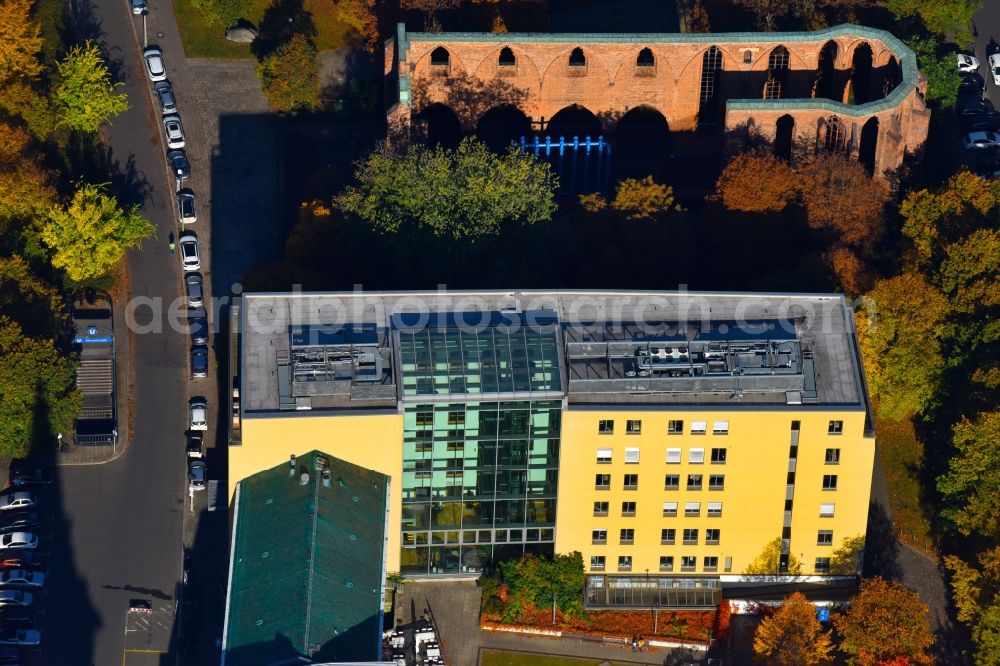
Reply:
[[941, 515], [966, 536], [1000, 530], [1000, 411], [963, 418], [952, 428], [955, 454], [937, 487], [946, 506]]

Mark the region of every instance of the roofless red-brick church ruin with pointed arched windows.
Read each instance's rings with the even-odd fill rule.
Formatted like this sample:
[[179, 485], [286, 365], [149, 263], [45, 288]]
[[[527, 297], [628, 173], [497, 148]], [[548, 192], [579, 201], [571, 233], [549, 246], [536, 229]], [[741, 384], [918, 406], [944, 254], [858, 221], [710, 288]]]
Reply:
[[[830, 150], [884, 177], [927, 138], [926, 79], [882, 30], [540, 34], [407, 32], [386, 49], [391, 131], [433, 138], [601, 134], [642, 115], [718, 128], [776, 154]], [[662, 119], [662, 120], [661, 120]], [[400, 136], [399, 134], [396, 134]], [[596, 136], [595, 136], [596, 138]]]

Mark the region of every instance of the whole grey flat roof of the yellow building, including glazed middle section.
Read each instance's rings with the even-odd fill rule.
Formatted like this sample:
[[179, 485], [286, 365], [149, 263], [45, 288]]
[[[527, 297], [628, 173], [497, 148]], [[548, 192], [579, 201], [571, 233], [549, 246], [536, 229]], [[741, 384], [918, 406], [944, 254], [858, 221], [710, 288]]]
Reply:
[[867, 406], [840, 294], [244, 294], [244, 415], [428, 401]]

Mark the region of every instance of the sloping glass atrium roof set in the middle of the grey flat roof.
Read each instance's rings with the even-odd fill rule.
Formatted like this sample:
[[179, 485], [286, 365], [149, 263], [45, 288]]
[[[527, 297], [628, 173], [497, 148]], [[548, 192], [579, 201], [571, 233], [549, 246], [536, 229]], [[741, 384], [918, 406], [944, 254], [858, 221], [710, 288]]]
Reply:
[[398, 334], [404, 397], [562, 391], [553, 325], [432, 325]]

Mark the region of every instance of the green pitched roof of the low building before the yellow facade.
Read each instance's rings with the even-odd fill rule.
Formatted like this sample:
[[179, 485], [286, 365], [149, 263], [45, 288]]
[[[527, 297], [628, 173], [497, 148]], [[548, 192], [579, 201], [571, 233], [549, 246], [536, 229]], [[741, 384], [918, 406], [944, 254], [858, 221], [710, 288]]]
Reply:
[[388, 478], [319, 451], [290, 469], [238, 486], [223, 664], [377, 660]]

